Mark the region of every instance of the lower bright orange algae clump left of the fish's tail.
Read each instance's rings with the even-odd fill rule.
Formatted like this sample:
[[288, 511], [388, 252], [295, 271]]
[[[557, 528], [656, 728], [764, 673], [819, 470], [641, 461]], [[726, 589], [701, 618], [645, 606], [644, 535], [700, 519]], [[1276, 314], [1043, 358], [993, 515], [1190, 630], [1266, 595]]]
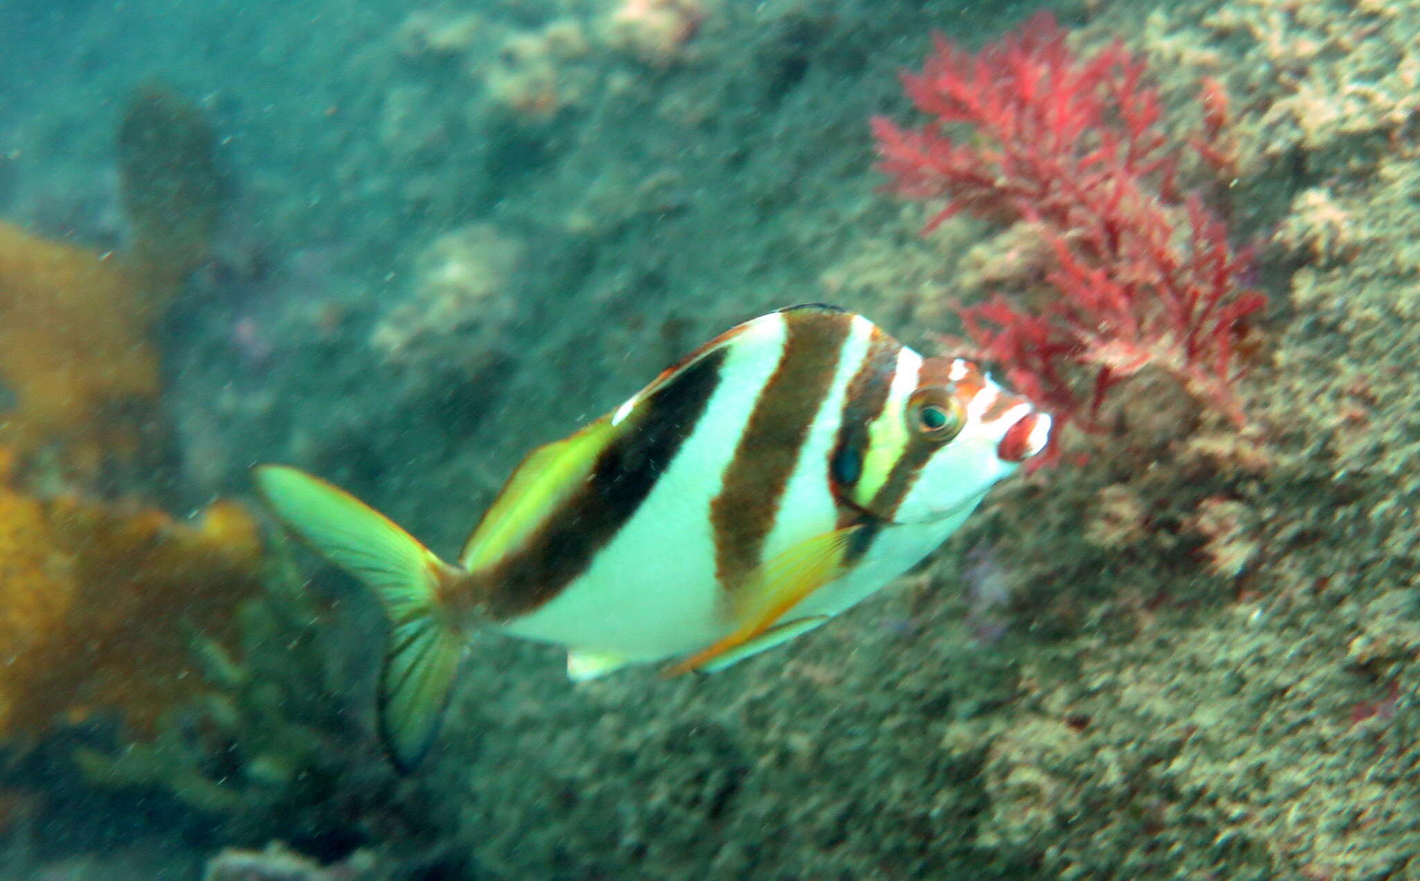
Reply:
[[[0, 475], [10, 461], [0, 448]], [[151, 733], [200, 692], [192, 636], [231, 636], [260, 556], [256, 522], [230, 502], [189, 525], [0, 482], [0, 736], [105, 711]]]

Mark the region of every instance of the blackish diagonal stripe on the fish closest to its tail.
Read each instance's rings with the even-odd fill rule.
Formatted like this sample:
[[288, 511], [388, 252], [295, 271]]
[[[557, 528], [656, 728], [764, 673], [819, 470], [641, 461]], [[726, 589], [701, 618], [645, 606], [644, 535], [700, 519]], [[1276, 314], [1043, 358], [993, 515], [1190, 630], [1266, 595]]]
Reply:
[[606, 445], [591, 477], [562, 509], [486, 575], [496, 620], [527, 614], [586, 572], [596, 553], [636, 514], [694, 430], [720, 384], [727, 349], [709, 352], [628, 416], [626, 431]]

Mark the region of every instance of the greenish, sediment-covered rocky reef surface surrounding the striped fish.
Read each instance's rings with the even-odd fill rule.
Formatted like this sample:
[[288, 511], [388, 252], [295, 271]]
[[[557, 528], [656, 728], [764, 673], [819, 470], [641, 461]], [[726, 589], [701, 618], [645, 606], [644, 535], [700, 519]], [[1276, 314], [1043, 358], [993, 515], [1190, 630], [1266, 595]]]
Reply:
[[[866, 118], [907, 116], [932, 28], [980, 44], [1044, 4], [622, 6], [0, 3], [0, 217], [122, 247], [114, 131], [149, 78], [222, 139], [151, 497], [250, 498], [290, 461], [452, 552], [531, 445], [736, 321], [832, 301], [930, 348], [991, 289], [1012, 243], [920, 237]], [[572, 687], [559, 651], [481, 640], [410, 779], [371, 746], [371, 609], [322, 572], [320, 651], [301, 616], [248, 640], [277, 691], [239, 694], [227, 755], [11, 748], [34, 806], [0, 874], [271, 847], [210, 877], [1420, 878], [1420, 0], [1052, 9], [1180, 119], [1203, 75], [1234, 95], [1269, 298], [1247, 431], [1142, 379], [903, 584], [721, 675]]]

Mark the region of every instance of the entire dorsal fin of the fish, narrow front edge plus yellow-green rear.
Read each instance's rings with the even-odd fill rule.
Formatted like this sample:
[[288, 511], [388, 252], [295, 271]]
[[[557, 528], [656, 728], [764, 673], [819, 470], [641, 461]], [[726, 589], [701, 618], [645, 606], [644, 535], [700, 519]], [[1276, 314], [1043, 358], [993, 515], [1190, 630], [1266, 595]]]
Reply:
[[612, 413], [571, 437], [530, 453], [469, 536], [460, 556], [463, 566], [479, 570], [515, 550], [591, 477], [598, 455], [626, 431], [636, 428], [639, 423], [635, 414], [643, 401], [674, 384], [690, 367], [730, 345], [755, 321], [763, 319], [730, 328], [663, 370]]

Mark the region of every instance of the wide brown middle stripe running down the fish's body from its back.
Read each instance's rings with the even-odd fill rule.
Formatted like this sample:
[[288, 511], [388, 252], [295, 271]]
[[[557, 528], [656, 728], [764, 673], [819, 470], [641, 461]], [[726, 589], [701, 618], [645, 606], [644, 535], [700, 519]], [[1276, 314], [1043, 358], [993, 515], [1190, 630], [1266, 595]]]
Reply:
[[784, 312], [780, 363], [760, 390], [720, 494], [710, 502], [716, 577], [727, 590], [740, 586], [761, 562], [764, 539], [834, 384], [852, 321], [842, 311], [799, 306]]

